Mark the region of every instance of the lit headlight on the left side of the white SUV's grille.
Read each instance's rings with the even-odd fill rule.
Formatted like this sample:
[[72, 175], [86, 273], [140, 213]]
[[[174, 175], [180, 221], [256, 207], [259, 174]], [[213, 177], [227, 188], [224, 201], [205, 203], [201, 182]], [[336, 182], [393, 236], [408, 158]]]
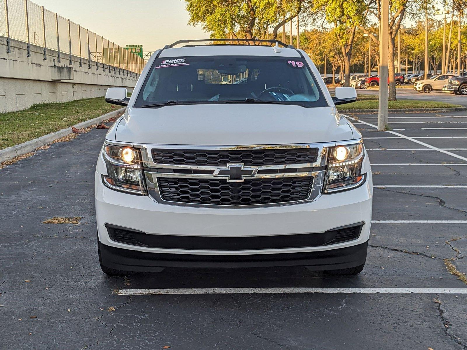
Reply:
[[102, 181], [107, 187], [138, 195], [147, 194], [138, 149], [106, 145], [104, 159], [109, 175], [103, 175]]

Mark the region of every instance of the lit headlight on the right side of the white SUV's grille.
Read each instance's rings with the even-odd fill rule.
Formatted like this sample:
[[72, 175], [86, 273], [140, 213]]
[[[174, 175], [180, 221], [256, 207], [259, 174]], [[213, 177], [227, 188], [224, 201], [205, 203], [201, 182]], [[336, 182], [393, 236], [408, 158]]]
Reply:
[[340, 145], [329, 148], [324, 192], [337, 192], [359, 186], [364, 181], [361, 174], [363, 144]]

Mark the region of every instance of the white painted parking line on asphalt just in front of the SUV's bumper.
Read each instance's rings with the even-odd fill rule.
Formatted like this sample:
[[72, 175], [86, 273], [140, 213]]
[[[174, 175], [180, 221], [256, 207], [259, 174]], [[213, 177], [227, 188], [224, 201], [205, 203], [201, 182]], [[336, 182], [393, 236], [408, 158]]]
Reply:
[[119, 295], [161, 294], [256, 294], [256, 293], [344, 293], [344, 294], [467, 294], [467, 288], [326, 288], [326, 287], [262, 287], [262, 288], [155, 288], [120, 289]]

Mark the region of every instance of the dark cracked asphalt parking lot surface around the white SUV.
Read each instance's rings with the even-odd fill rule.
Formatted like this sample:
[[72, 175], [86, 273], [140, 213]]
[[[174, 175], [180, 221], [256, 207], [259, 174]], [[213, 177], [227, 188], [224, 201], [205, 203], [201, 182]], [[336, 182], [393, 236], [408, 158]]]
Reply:
[[[107, 277], [93, 204], [106, 131], [0, 169], [1, 348], [467, 349], [467, 294], [446, 290], [467, 288], [455, 275], [467, 272], [467, 112], [391, 113], [392, 132], [375, 131], [377, 114], [351, 117], [375, 185], [367, 265], [354, 277], [302, 267]], [[51, 217], [82, 219], [42, 223]], [[239, 287], [255, 293], [120, 295]]]

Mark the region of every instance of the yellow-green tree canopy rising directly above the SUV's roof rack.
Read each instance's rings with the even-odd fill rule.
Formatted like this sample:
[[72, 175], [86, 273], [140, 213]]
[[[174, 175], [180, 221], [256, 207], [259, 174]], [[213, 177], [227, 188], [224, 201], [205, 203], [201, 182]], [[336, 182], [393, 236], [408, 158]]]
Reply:
[[[277, 38], [283, 24], [310, 9], [311, 0], [184, 0], [189, 24], [211, 38]], [[271, 35], [272, 34], [272, 35]]]

